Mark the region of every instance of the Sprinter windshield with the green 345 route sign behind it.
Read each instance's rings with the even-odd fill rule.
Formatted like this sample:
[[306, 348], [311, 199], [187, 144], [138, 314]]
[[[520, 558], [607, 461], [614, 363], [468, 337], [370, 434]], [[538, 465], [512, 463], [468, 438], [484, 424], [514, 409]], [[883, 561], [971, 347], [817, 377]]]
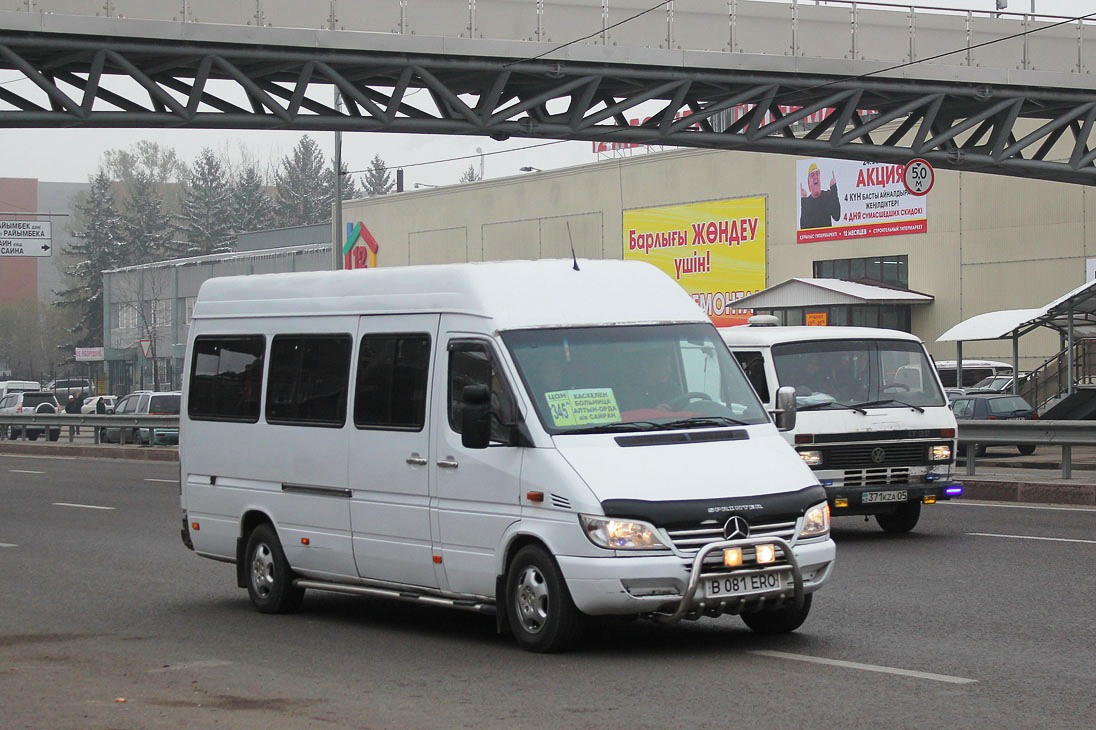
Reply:
[[711, 324], [514, 330], [502, 339], [552, 434], [769, 420]]

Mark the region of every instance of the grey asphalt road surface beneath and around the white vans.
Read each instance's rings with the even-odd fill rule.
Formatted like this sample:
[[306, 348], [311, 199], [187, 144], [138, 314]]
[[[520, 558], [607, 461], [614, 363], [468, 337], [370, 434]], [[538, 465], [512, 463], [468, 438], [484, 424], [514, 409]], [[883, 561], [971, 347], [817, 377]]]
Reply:
[[178, 465], [0, 455], [3, 728], [1082, 728], [1096, 510], [836, 523], [796, 634], [603, 621], [537, 655], [493, 619], [310, 592], [264, 616], [180, 538]]

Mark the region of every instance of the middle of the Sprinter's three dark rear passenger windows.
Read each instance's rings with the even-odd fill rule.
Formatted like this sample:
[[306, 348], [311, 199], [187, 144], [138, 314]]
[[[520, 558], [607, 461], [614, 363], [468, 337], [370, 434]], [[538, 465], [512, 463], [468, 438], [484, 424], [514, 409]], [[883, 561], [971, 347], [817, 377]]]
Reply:
[[350, 379], [349, 334], [278, 334], [271, 344], [266, 420], [342, 426]]

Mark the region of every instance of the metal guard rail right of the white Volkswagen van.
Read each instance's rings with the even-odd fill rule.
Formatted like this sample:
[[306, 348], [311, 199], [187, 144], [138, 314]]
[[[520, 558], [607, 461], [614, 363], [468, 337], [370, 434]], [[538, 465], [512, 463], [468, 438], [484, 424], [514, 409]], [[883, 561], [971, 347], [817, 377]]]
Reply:
[[1061, 446], [1062, 478], [1073, 476], [1073, 446], [1096, 446], [1096, 421], [960, 421], [959, 443], [967, 446], [967, 476], [977, 468], [978, 446], [1034, 444]]

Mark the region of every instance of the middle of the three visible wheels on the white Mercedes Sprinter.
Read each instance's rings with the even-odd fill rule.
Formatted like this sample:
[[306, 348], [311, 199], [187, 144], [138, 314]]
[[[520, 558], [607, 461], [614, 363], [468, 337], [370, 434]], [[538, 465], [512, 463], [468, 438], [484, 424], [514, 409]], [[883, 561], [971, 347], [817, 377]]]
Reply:
[[510, 630], [526, 651], [564, 651], [582, 638], [584, 617], [556, 561], [536, 545], [526, 545], [511, 561], [505, 601]]

